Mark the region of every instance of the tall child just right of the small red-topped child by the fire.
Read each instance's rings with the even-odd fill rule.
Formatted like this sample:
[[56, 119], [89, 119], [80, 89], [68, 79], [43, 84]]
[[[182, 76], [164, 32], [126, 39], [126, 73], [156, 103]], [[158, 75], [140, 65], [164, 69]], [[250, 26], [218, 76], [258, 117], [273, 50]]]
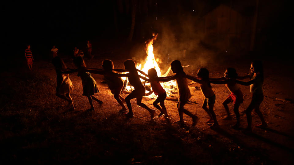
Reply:
[[184, 118], [183, 113], [190, 116], [193, 120], [192, 126], [195, 126], [198, 117], [193, 115], [188, 110], [184, 109], [184, 105], [189, 101], [189, 98], [191, 97], [191, 93], [188, 87], [187, 79], [185, 77], [186, 73], [183, 70], [182, 64], [179, 60], [174, 60], [171, 62], [171, 70], [175, 75], [169, 76], [169, 77], [160, 77], [160, 81], [168, 82], [171, 80], [176, 80], [177, 86], [178, 86], [178, 104], [177, 108], [179, 111], [179, 117], [180, 120], [177, 121], [177, 123], [180, 123], [181, 125], [184, 125]]

